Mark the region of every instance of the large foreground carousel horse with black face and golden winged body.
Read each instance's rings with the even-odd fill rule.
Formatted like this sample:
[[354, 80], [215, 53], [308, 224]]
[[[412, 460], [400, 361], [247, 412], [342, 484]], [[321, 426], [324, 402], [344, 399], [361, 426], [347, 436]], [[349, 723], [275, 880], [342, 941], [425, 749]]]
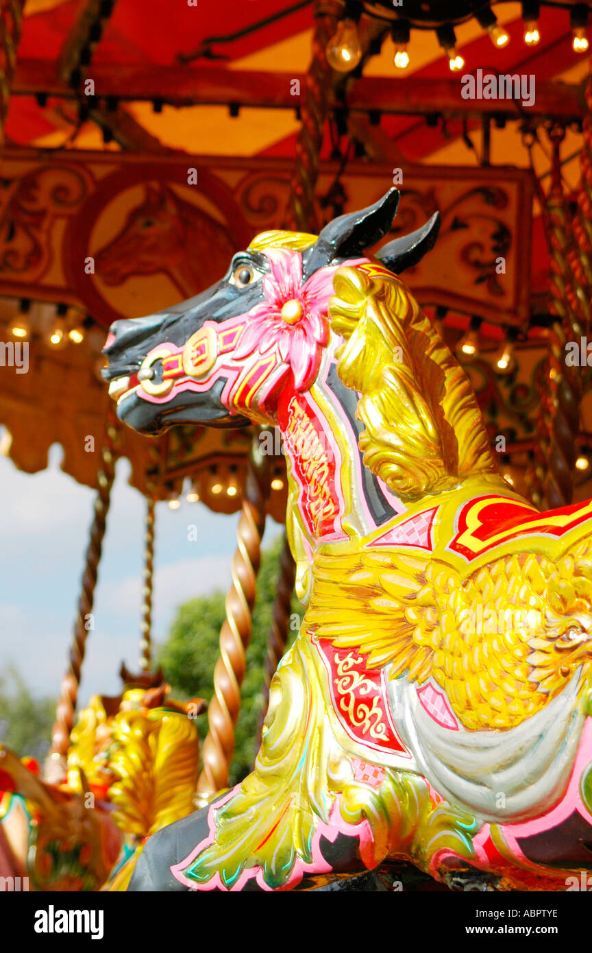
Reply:
[[499, 475], [398, 276], [438, 217], [367, 254], [398, 200], [259, 234], [203, 294], [110, 329], [137, 431], [280, 428], [306, 606], [252, 774], [156, 833], [128, 889], [412, 862], [456, 889], [564, 890], [592, 868], [592, 502], [541, 514]]

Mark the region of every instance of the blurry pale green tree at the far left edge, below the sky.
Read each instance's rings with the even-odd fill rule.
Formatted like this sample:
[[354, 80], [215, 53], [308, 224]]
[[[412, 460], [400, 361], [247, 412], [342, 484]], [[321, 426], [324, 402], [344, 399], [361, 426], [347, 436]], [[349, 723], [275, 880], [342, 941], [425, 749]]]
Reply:
[[15, 754], [43, 759], [49, 748], [55, 700], [36, 699], [17, 669], [0, 678], [0, 741]]

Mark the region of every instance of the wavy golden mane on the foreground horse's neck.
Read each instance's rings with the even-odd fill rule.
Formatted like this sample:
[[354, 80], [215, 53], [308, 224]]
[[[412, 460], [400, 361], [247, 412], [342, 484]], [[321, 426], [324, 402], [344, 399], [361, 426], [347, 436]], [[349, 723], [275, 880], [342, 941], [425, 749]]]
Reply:
[[404, 283], [344, 267], [333, 286], [328, 314], [345, 337], [337, 373], [362, 395], [365, 466], [410, 498], [496, 473], [470, 383]]

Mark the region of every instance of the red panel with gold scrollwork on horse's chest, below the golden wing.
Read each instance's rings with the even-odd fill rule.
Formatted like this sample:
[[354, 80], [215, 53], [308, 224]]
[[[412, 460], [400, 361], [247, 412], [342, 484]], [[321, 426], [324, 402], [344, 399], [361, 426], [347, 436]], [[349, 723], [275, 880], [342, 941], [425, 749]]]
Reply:
[[326, 667], [333, 710], [347, 735], [373, 751], [410, 758], [391, 718], [381, 669], [367, 669], [366, 659], [353, 649], [338, 649], [324, 639], [315, 644]]

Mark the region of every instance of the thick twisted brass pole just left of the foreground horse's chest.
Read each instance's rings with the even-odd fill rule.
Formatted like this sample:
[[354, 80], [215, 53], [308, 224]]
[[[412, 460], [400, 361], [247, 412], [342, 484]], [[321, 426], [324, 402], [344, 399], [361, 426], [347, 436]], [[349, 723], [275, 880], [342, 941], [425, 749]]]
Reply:
[[257, 436], [249, 456], [243, 490], [243, 508], [237, 528], [238, 546], [232, 559], [232, 585], [220, 632], [220, 656], [214, 668], [214, 695], [207, 709], [208, 732], [202, 756], [204, 769], [197, 782], [198, 805], [227, 787], [228, 766], [234, 751], [234, 725], [241, 707], [245, 678], [245, 650], [250, 641], [252, 610], [266, 525], [267, 473]]

